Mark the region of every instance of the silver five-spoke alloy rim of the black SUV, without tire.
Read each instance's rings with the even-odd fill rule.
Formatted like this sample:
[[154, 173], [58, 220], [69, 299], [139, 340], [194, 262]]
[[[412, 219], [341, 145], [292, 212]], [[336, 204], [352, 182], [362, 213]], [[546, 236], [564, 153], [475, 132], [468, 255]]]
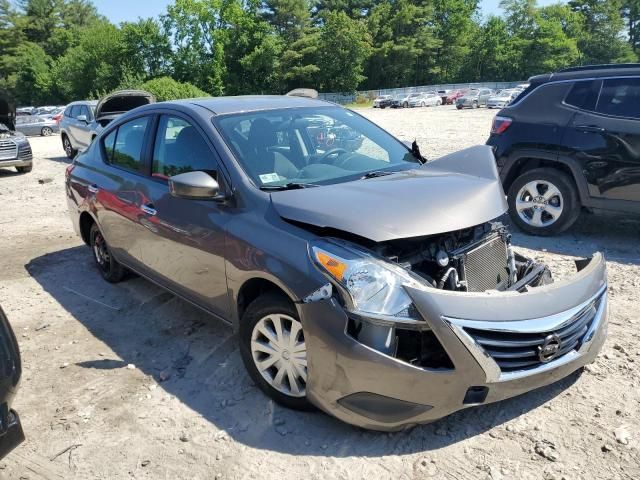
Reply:
[[562, 193], [551, 182], [534, 180], [525, 184], [516, 197], [516, 211], [527, 225], [548, 227], [562, 215]]

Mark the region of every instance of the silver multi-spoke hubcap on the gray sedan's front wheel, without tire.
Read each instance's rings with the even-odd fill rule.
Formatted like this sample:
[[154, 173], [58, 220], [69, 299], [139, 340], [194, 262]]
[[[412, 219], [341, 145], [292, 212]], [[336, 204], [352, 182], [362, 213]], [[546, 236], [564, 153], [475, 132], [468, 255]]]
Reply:
[[304, 397], [307, 346], [302, 324], [284, 314], [260, 319], [251, 334], [253, 362], [271, 387], [290, 397]]

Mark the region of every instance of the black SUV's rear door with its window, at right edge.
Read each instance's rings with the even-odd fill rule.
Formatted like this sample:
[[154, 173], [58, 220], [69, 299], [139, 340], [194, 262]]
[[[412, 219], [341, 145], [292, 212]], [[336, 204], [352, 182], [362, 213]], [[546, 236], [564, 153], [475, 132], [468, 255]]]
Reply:
[[640, 78], [595, 81], [590, 88], [563, 143], [575, 151], [593, 197], [640, 201]]

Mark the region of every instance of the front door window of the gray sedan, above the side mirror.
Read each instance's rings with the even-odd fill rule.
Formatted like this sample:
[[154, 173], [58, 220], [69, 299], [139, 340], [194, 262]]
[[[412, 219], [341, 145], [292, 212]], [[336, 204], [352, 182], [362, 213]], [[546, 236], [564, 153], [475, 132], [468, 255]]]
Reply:
[[163, 180], [193, 171], [217, 170], [217, 159], [200, 132], [187, 120], [162, 115], [153, 149], [151, 175]]

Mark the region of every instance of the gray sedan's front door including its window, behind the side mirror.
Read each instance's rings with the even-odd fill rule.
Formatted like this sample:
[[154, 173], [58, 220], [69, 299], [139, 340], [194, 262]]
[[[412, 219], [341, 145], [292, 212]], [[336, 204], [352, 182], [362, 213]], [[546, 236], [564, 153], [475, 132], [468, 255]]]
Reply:
[[174, 292], [227, 317], [224, 225], [230, 219], [224, 204], [173, 197], [168, 179], [205, 171], [229, 185], [218, 155], [191, 118], [179, 113], [159, 117], [155, 134], [149, 198], [143, 220], [144, 263], [152, 278]]

